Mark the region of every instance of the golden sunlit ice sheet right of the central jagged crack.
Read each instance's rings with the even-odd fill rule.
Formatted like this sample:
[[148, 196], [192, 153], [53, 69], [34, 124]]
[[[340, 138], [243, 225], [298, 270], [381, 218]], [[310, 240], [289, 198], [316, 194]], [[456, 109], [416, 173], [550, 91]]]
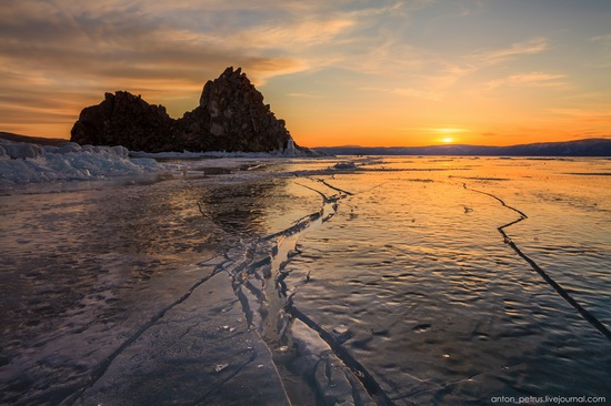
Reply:
[[610, 162], [434, 161], [389, 159], [329, 180], [353, 195], [301, 238], [286, 270], [294, 306], [324, 331], [349, 327], [342, 347], [398, 403], [609, 396], [609, 342], [503, 241], [498, 227], [520, 214], [494, 196], [529, 216], [509, 237], [611, 327], [611, 185], [563, 174]]

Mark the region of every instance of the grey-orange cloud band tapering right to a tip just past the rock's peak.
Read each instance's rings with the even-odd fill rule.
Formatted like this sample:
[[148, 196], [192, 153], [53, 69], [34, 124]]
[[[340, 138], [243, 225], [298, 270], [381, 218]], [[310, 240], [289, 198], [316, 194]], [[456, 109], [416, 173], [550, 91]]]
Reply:
[[[2, 24], [0, 31], [4, 65], [39, 67], [48, 75], [77, 73], [102, 81], [180, 78], [199, 85], [207, 70], [219, 71], [230, 64], [251, 68], [261, 77], [301, 65], [282, 55], [247, 52], [249, 44], [231, 37], [168, 26], [140, 8], [113, 10], [92, 8], [77, 14], [49, 6], [33, 8], [31, 13], [22, 10], [28, 18]], [[51, 18], [46, 20], [40, 13]]]

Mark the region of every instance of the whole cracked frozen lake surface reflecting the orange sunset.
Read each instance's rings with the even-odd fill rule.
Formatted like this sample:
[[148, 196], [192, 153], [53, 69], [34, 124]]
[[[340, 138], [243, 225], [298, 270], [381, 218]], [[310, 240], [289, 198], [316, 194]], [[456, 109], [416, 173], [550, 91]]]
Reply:
[[0, 195], [0, 403], [611, 399], [610, 160], [339, 161]]

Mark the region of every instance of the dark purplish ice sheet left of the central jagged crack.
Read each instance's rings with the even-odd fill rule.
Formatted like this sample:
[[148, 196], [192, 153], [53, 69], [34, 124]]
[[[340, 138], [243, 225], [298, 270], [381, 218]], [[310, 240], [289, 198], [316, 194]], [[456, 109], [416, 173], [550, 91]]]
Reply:
[[210, 161], [229, 172], [0, 195], [1, 404], [287, 403], [226, 270], [320, 197]]

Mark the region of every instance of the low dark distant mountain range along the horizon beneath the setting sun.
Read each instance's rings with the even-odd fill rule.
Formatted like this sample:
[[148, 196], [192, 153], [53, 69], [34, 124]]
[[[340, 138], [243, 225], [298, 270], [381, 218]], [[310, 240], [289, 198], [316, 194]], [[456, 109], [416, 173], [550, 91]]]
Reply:
[[611, 139], [541, 142], [511, 146], [444, 144], [431, 146], [320, 146], [332, 155], [611, 156]]

